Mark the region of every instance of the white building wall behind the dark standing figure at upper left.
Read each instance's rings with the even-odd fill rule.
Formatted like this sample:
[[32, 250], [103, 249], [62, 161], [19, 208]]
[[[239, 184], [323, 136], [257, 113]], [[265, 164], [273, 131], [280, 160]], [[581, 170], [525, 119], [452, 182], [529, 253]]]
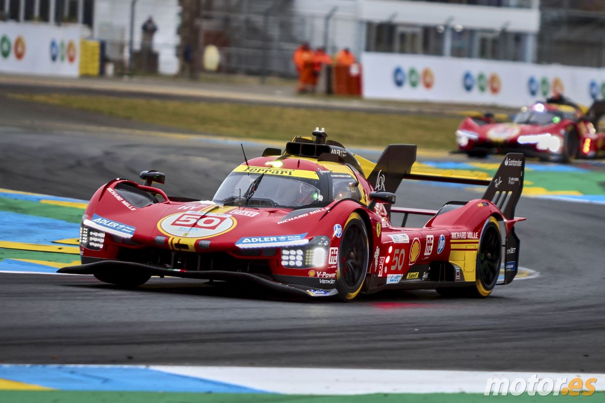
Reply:
[[[130, 0], [95, 0], [94, 37], [105, 40], [125, 42], [123, 57], [128, 58], [128, 40], [130, 30]], [[178, 0], [138, 0], [134, 20], [134, 48], [140, 48], [141, 27], [149, 17], [155, 21], [158, 30], [154, 36], [154, 50], [159, 52], [159, 69], [162, 74], [175, 74], [178, 71], [176, 47], [179, 43]]]

